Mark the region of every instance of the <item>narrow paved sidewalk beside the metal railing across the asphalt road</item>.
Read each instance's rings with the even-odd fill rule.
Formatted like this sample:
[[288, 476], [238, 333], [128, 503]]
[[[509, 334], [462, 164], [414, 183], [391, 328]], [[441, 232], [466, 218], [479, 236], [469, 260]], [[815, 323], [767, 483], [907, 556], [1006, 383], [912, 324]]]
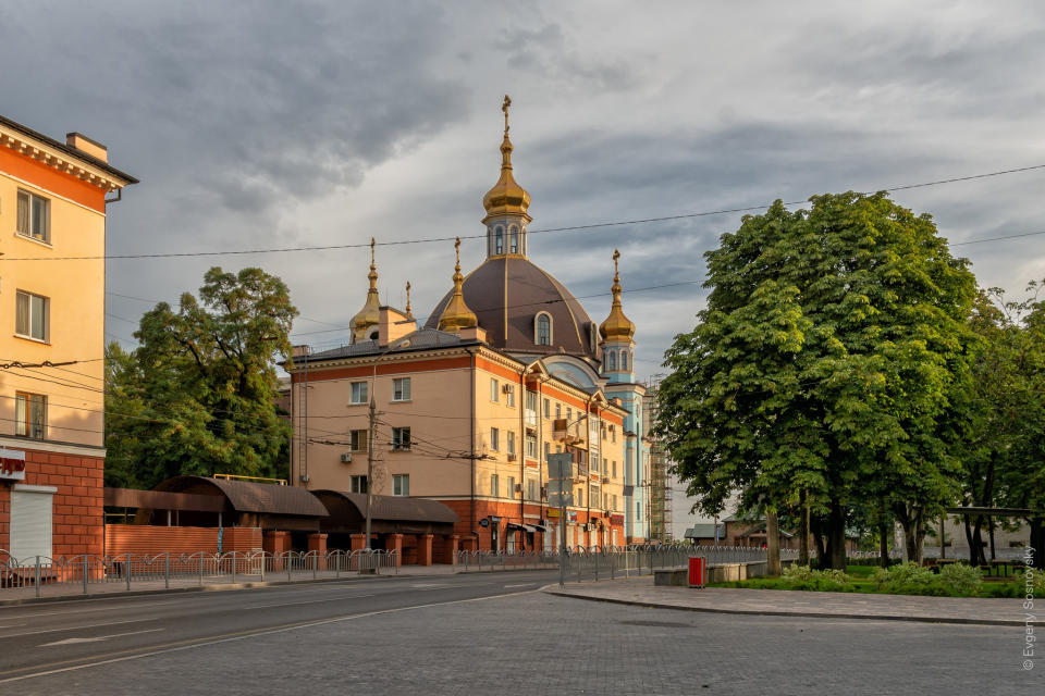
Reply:
[[[500, 573], [504, 571], [517, 570], [539, 570], [524, 568], [500, 567], [483, 568], [479, 571], [475, 566], [470, 567], [469, 573]], [[546, 569], [545, 569], [546, 570]], [[364, 574], [358, 572], [342, 571], [340, 574], [334, 571], [317, 571], [315, 577], [311, 571], [294, 571], [291, 579], [287, 580], [286, 573], [267, 573], [265, 580], [260, 575], [237, 574], [235, 582], [231, 574], [225, 575], [205, 575], [202, 582], [198, 576], [172, 577], [170, 586], [162, 579], [160, 580], [133, 580], [131, 589], [122, 580], [114, 580], [107, 583], [90, 583], [87, 585], [87, 593], [84, 594], [84, 586], [73, 583], [61, 583], [56, 585], [44, 584], [41, 586], [41, 597], [36, 596], [36, 587], [15, 587], [0, 589], [0, 607], [10, 605], [30, 604], [36, 601], [58, 601], [63, 599], [90, 599], [97, 597], [131, 597], [134, 595], [150, 595], [167, 592], [219, 592], [223, 589], [247, 589], [250, 587], [274, 587], [278, 585], [299, 584], [299, 583], [332, 583], [345, 582], [352, 580], [373, 580], [376, 577], [418, 577], [432, 575], [454, 575], [465, 572], [462, 566], [403, 566], [396, 572], [395, 569], [383, 568], [378, 574]]]

